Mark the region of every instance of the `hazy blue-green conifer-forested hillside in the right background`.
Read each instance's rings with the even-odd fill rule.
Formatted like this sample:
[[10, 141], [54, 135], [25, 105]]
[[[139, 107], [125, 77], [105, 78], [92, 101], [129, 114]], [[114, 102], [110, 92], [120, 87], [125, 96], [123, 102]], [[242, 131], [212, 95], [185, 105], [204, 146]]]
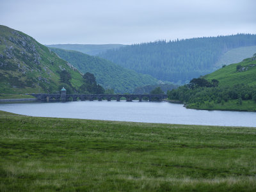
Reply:
[[225, 52], [252, 45], [256, 45], [256, 35], [239, 34], [134, 44], [99, 56], [162, 81], [188, 83], [220, 68], [216, 63]]

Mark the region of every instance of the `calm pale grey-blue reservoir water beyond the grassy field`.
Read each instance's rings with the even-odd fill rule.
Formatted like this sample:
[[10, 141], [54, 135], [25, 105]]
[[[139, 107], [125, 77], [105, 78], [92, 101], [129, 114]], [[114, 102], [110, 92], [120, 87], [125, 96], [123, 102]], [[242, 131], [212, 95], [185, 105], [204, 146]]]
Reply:
[[29, 116], [84, 118], [161, 124], [256, 127], [256, 113], [186, 109], [169, 102], [77, 101], [0, 104], [0, 110]]

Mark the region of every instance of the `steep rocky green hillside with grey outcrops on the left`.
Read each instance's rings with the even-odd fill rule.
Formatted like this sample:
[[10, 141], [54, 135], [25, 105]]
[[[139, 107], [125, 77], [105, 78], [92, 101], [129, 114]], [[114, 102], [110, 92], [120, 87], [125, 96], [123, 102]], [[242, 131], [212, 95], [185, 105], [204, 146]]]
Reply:
[[63, 71], [76, 92], [83, 81], [76, 68], [31, 36], [0, 26], [0, 93], [59, 92]]

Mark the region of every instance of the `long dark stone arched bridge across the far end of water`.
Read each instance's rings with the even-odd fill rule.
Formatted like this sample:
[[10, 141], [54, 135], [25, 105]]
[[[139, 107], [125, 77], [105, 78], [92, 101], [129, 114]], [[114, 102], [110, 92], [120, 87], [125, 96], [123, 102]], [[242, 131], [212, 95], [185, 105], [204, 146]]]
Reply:
[[37, 100], [60, 100], [60, 101], [67, 101], [67, 100], [103, 100], [106, 99], [108, 101], [110, 100], [116, 100], [120, 101], [122, 97], [126, 99], [126, 101], [132, 101], [132, 100], [163, 100], [167, 98], [166, 94], [148, 94], [148, 95], [127, 95], [127, 94], [115, 94], [115, 95], [107, 95], [107, 94], [28, 94], [32, 95], [33, 97], [36, 97]]

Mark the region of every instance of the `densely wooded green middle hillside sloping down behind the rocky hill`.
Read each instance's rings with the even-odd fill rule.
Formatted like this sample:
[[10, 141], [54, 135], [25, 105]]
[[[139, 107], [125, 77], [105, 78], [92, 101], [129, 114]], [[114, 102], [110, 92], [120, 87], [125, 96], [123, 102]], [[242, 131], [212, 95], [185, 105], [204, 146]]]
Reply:
[[138, 74], [134, 70], [120, 67], [96, 56], [52, 47], [50, 49], [81, 72], [94, 74], [100, 85], [104, 88], [113, 88], [116, 93], [132, 93], [138, 86], [157, 83], [157, 79], [154, 77]]

